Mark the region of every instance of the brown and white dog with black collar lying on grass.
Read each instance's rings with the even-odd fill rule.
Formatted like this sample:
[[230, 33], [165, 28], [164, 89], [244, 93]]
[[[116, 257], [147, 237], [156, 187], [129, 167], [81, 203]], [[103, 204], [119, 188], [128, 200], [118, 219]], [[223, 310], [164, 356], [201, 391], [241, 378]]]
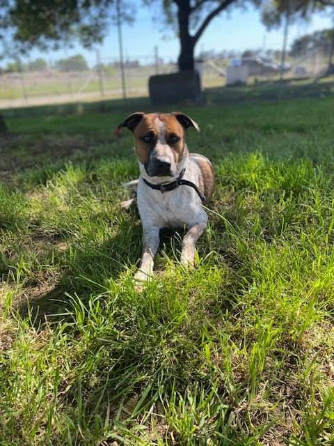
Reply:
[[200, 130], [183, 113], [134, 113], [118, 125], [134, 133], [134, 150], [141, 176], [137, 205], [143, 226], [143, 256], [135, 279], [143, 282], [153, 272], [162, 228], [186, 226], [181, 263], [193, 265], [195, 243], [207, 227], [207, 203], [214, 191], [214, 171], [207, 157], [189, 153], [187, 128]]

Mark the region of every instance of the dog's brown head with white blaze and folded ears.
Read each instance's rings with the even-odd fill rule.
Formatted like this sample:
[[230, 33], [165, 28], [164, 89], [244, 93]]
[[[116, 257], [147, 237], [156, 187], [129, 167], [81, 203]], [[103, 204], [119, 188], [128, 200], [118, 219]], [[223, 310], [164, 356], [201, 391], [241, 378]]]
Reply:
[[180, 112], [134, 113], [118, 125], [118, 129], [122, 127], [134, 133], [136, 155], [149, 176], [175, 176], [186, 151], [186, 129], [200, 130]]

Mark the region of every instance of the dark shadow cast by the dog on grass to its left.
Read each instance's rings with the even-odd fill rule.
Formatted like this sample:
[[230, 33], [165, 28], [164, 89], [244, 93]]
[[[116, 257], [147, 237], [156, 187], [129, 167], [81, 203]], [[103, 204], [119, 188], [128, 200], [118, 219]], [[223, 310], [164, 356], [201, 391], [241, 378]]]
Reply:
[[[136, 217], [135, 212], [132, 216]], [[104, 243], [74, 243], [58, 253], [63, 260], [61, 276], [45, 292], [36, 293], [34, 286], [27, 286], [17, 312], [22, 317], [30, 314], [37, 327], [45, 321], [64, 319], [70, 307], [69, 296], [77, 294], [87, 302], [90, 295], [105, 290], [109, 279], [117, 280], [132, 268], [140, 254], [141, 225], [132, 218], [124, 220], [118, 232]]]

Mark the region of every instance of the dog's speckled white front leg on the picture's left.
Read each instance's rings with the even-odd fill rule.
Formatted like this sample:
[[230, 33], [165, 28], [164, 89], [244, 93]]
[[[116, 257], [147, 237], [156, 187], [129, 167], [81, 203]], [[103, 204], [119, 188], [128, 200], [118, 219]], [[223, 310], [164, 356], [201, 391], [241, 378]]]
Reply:
[[134, 275], [134, 279], [138, 282], [145, 282], [150, 279], [153, 274], [153, 259], [159, 247], [159, 231], [158, 226], [150, 226], [143, 232], [143, 256], [141, 258], [141, 266]]

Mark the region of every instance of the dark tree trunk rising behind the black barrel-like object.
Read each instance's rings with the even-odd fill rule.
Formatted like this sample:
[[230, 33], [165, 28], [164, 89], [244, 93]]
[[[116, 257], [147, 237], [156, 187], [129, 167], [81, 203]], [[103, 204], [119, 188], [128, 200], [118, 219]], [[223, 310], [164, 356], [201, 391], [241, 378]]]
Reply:
[[177, 20], [179, 22], [179, 34], [181, 51], [178, 59], [178, 65], [180, 71], [193, 71], [193, 50], [195, 44], [192, 36], [189, 34], [189, 16], [191, 13], [189, 0], [177, 1], [178, 11]]

